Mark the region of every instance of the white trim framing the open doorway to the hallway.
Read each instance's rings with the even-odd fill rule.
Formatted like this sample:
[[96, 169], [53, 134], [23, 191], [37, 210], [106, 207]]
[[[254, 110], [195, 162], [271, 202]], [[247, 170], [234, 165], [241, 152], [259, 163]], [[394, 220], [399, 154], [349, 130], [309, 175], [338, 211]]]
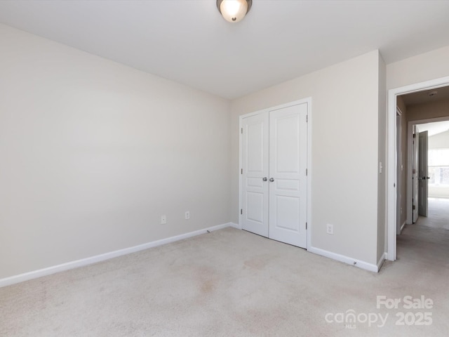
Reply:
[[431, 79], [408, 86], [392, 88], [388, 91], [387, 101], [387, 260], [396, 260], [396, 97], [433, 88], [449, 86], [449, 77]]

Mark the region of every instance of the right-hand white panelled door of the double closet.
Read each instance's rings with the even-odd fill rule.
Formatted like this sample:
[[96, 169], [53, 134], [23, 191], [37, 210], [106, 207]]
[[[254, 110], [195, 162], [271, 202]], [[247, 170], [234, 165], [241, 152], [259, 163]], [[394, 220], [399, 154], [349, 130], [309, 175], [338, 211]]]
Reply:
[[269, 112], [269, 238], [307, 248], [307, 103]]

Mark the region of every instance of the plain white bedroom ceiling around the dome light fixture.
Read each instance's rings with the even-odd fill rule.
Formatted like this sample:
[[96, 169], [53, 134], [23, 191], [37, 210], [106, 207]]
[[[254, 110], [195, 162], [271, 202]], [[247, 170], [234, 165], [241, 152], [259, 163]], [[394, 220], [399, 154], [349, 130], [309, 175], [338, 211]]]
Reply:
[[0, 22], [224, 98], [380, 49], [387, 63], [449, 45], [449, 1], [0, 1]]

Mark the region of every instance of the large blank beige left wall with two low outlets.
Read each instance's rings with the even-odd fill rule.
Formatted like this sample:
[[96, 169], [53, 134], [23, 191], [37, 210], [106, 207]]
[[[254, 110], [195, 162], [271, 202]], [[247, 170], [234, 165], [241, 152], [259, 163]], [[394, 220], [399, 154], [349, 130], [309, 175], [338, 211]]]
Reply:
[[229, 222], [227, 100], [4, 25], [0, 41], [0, 279]]

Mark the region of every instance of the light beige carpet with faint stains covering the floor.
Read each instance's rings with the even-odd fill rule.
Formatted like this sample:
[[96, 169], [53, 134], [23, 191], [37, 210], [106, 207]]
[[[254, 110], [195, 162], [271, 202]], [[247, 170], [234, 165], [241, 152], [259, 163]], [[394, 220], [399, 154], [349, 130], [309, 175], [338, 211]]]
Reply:
[[[378, 274], [234, 228], [203, 234], [0, 289], [0, 336], [448, 336], [449, 235], [427, 229], [406, 227]], [[382, 295], [434, 305], [377, 309]], [[389, 316], [326, 322], [347, 310]], [[398, 312], [432, 324], [397, 326]]]

